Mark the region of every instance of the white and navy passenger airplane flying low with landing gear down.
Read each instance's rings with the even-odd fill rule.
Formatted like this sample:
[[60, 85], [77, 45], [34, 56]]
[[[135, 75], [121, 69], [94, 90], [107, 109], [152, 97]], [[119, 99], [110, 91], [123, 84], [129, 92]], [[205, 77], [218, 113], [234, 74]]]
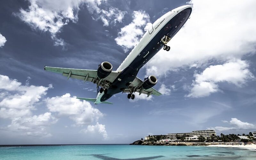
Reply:
[[71, 77], [97, 84], [97, 97], [95, 99], [77, 97], [80, 100], [92, 101], [94, 104], [113, 104], [106, 100], [120, 92], [128, 93], [127, 98], [132, 100], [135, 98], [133, 94], [135, 92], [139, 92], [139, 95], [147, 94], [148, 97], [151, 94], [160, 96], [162, 93], [153, 88], [157, 83], [156, 76], [148, 76], [142, 81], [137, 77], [137, 74], [140, 68], [160, 49], [170, 51], [170, 46], [167, 43], [189, 19], [191, 12], [192, 6], [184, 5], [158, 18], [116, 71], [112, 70], [112, 64], [107, 61], [102, 62], [97, 70], [57, 68], [45, 65], [44, 70], [61, 73], [68, 79]]

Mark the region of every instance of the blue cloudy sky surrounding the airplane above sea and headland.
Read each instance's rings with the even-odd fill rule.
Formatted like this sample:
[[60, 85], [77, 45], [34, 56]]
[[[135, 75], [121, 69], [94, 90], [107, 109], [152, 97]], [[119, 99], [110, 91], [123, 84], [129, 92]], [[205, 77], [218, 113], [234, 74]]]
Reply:
[[[0, 144], [121, 144], [146, 135], [256, 131], [256, 1], [0, 0]], [[117, 69], [148, 26], [181, 5], [190, 19], [138, 74], [162, 96], [95, 98], [96, 85], [44, 65]]]

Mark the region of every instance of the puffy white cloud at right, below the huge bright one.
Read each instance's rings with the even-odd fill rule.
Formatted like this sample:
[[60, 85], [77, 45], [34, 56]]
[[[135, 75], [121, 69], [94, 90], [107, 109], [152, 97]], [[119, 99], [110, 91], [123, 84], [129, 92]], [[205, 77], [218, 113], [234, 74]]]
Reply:
[[244, 60], [229, 61], [223, 65], [215, 65], [206, 68], [201, 74], [195, 74], [187, 97], [205, 97], [218, 92], [220, 82], [228, 82], [241, 87], [248, 79], [254, 78], [248, 69], [249, 65]]

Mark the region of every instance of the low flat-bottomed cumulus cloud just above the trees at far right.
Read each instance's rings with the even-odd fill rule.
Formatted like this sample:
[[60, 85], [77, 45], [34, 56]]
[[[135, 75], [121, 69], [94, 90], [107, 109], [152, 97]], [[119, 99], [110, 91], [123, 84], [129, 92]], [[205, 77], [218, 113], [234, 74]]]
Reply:
[[[228, 121], [222, 121], [224, 123], [228, 123]], [[242, 122], [241, 120], [237, 118], [231, 118], [229, 121], [229, 124], [231, 127], [222, 127], [222, 126], [216, 126], [216, 127], [211, 127], [212, 129], [215, 129], [216, 131], [229, 131], [229, 130], [251, 130], [255, 129], [255, 125], [248, 123], [248, 122]], [[208, 128], [210, 129], [210, 128]]]

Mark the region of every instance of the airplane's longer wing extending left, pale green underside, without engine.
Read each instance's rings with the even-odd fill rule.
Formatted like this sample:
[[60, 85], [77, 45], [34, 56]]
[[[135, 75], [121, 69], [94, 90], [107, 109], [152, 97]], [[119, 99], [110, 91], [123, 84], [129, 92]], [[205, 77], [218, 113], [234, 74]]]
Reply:
[[[57, 68], [57, 67], [47, 67], [44, 66], [44, 70], [51, 71], [55, 73], [60, 73], [62, 76], [66, 76], [69, 78], [76, 78], [79, 80], [83, 80], [84, 82], [93, 82], [95, 84], [98, 84], [100, 79], [97, 77], [97, 70], [89, 70], [89, 69], [73, 69], [73, 68]], [[118, 76], [117, 71], [112, 71], [109, 76], [104, 78], [103, 80], [106, 80], [108, 82], [113, 82], [116, 77]], [[103, 87], [103, 82], [101, 81], [99, 83], [100, 87]], [[109, 86], [108, 83], [105, 84], [107, 87]]]

